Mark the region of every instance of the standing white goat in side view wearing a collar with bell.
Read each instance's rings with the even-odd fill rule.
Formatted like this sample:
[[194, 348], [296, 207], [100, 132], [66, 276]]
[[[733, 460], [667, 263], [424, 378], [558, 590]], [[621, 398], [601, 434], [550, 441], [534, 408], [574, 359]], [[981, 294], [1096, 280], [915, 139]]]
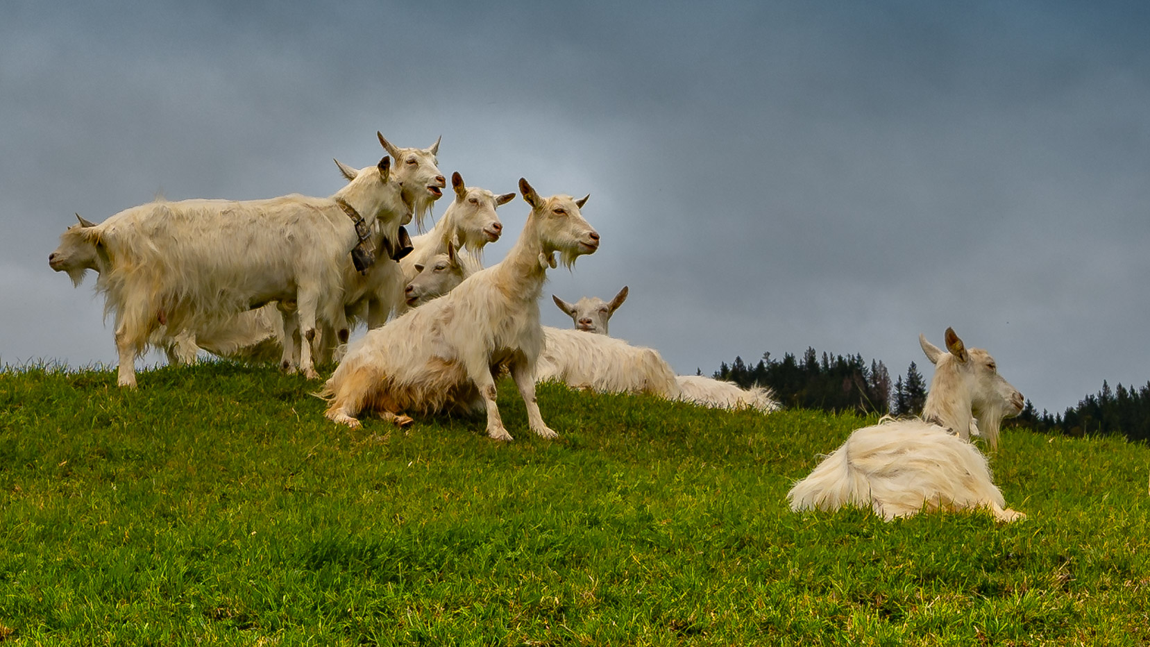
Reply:
[[133, 359], [161, 326], [178, 335], [271, 300], [297, 304], [284, 336], [302, 332], [300, 367], [319, 376], [309, 342], [317, 317], [346, 327], [340, 269], [358, 242], [340, 204], [392, 235], [409, 213], [385, 157], [330, 198], [158, 200], [77, 229], [106, 260], [97, 288], [115, 313], [120, 386], [136, 386]]

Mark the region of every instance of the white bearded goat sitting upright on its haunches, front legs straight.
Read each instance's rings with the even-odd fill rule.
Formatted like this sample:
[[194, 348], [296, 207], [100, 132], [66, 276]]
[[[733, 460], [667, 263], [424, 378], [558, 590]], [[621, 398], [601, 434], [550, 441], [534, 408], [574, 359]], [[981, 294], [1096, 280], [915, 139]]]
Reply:
[[352, 344], [323, 391], [328, 418], [355, 427], [354, 416], [370, 409], [407, 424], [411, 419], [398, 413], [485, 406], [488, 435], [511, 440], [492, 376], [507, 366], [531, 431], [557, 435], [543, 423], [535, 398], [535, 363], [543, 347], [538, 299], [555, 253], [570, 267], [577, 256], [598, 249], [599, 234], [580, 213], [586, 197], [542, 198], [522, 178], [519, 188], [531, 213], [507, 257]]

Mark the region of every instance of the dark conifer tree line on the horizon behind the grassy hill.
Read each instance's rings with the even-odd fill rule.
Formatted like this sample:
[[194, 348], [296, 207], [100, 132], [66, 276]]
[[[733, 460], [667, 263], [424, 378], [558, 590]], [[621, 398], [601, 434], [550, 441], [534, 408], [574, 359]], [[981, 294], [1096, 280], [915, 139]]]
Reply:
[[[867, 363], [861, 355], [821, 356], [807, 348], [803, 357], [792, 353], [774, 359], [769, 352], [754, 366], [736, 357], [723, 361], [713, 376], [743, 388], [767, 387], [783, 406], [823, 411], [857, 411], [894, 416], [918, 416], [927, 398], [927, 382], [912, 361], [894, 383], [881, 360]], [[1041, 433], [1071, 436], [1120, 434], [1130, 440], [1150, 440], [1150, 381], [1140, 388], [1105, 381], [1096, 395], [1079, 401], [1063, 413], [1042, 413], [1026, 401], [1022, 412], [1004, 420], [1004, 426], [1027, 427]]]

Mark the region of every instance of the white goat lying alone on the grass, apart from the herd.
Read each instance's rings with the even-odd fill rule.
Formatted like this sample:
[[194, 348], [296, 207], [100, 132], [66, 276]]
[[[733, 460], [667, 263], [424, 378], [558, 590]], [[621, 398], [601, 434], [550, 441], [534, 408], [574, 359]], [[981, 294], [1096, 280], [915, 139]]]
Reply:
[[1006, 509], [987, 458], [967, 440], [977, 416], [996, 447], [998, 425], [1022, 411], [1022, 394], [997, 373], [987, 351], [966, 349], [951, 328], [949, 352], [922, 335], [919, 343], [936, 366], [922, 417], [887, 417], [854, 431], [787, 494], [791, 510], [851, 504], [890, 520], [920, 510], [989, 508], [1002, 522], [1025, 517]]

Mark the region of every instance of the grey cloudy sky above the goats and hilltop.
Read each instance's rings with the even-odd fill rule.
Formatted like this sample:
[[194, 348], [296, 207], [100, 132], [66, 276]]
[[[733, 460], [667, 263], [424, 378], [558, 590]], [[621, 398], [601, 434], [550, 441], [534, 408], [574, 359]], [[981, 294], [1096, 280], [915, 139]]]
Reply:
[[894, 378], [953, 326], [1038, 410], [1150, 380], [1150, 5], [480, 5], [7, 2], [0, 364], [115, 363], [94, 281], [47, 265], [75, 212], [327, 196], [381, 130], [590, 193], [603, 245], [549, 292], [629, 286], [612, 334], [681, 373], [814, 347]]

